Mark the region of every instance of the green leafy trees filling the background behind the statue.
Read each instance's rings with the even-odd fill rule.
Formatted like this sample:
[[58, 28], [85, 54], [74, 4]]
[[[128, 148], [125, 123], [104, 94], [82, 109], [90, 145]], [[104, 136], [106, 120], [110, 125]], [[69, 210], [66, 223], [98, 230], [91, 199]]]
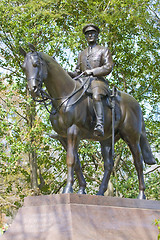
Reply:
[[[99, 25], [99, 42], [109, 46], [115, 62], [110, 85], [139, 101], [149, 142], [158, 153], [160, 19], [157, 9], [158, 1], [148, 0], [1, 0], [0, 207], [7, 214], [18, 208], [25, 196], [34, 194], [36, 188], [42, 194], [59, 193], [66, 181], [66, 153], [59, 142], [49, 137], [52, 128], [48, 113], [29, 96], [19, 46], [28, 51], [27, 44], [31, 42], [38, 51], [54, 55], [64, 68], [73, 69], [78, 52], [86, 47], [82, 27], [90, 22]], [[135, 198], [138, 181], [131, 153], [123, 141], [116, 144], [115, 152], [111, 177], [114, 195]], [[82, 141], [79, 154], [87, 193], [95, 194], [104, 171], [100, 146]], [[160, 164], [158, 158], [157, 164]], [[156, 170], [145, 176], [148, 199], [160, 200], [159, 174]], [[78, 190], [77, 181], [74, 190]]]

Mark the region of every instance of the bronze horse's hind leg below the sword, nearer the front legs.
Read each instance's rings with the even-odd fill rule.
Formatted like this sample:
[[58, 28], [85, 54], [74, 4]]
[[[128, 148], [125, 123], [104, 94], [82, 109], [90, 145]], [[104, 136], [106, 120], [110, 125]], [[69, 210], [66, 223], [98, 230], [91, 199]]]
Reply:
[[108, 187], [108, 181], [113, 169], [112, 141], [111, 139], [101, 142], [101, 152], [104, 161], [104, 175], [97, 195], [104, 195]]

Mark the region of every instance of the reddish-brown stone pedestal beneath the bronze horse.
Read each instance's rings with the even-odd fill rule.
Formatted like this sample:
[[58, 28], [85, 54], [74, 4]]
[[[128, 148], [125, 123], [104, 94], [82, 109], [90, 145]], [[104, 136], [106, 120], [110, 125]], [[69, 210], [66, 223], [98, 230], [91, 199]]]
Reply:
[[78, 194], [27, 197], [0, 240], [156, 240], [160, 202]]

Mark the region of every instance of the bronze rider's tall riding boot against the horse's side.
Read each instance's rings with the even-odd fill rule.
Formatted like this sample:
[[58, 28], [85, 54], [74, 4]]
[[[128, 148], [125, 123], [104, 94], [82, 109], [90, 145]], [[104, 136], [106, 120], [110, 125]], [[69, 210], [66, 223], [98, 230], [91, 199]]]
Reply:
[[96, 114], [96, 126], [94, 128], [94, 134], [96, 136], [104, 136], [104, 114], [103, 104], [101, 101], [93, 101], [94, 110]]

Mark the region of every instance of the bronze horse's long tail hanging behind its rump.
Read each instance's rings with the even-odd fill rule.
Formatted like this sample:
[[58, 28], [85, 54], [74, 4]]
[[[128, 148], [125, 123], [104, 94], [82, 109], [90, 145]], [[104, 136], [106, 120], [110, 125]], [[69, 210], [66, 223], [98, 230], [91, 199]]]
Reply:
[[142, 133], [141, 133], [141, 136], [140, 136], [140, 147], [141, 147], [144, 162], [147, 163], [148, 165], [155, 164], [156, 161], [155, 161], [155, 158], [152, 154], [149, 142], [147, 140], [145, 123], [144, 123], [143, 117], [142, 117]]

